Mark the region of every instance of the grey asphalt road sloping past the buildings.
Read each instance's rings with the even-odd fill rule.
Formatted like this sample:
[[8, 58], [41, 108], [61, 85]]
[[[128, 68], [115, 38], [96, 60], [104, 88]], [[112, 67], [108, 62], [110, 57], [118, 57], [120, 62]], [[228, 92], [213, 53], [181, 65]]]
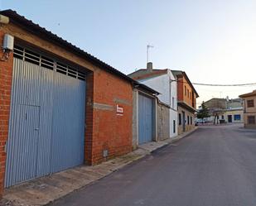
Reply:
[[51, 205], [255, 206], [256, 130], [200, 127]]

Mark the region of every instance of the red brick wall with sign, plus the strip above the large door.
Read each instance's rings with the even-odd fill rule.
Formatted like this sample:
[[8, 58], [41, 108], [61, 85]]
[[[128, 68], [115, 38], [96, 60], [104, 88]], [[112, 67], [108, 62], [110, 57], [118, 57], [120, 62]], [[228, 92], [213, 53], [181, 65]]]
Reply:
[[[81, 67], [91, 70], [87, 78], [86, 99], [86, 132], [85, 132], [85, 161], [95, 164], [103, 160], [102, 150], [109, 147], [109, 157], [131, 151], [132, 147], [132, 86], [128, 81], [109, 74], [97, 65], [75, 55], [70, 50], [41, 39], [12, 22], [2, 25], [2, 31], [28, 42], [29, 45], [45, 50], [50, 54], [74, 62]], [[10, 61], [11, 62], [11, 61]], [[12, 68], [12, 66], [11, 66]], [[115, 113], [114, 98], [121, 98], [125, 103], [119, 103], [124, 108], [123, 117]], [[94, 108], [94, 103], [104, 103], [114, 108], [113, 111]], [[104, 142], [104, 143], [103, 143]]]

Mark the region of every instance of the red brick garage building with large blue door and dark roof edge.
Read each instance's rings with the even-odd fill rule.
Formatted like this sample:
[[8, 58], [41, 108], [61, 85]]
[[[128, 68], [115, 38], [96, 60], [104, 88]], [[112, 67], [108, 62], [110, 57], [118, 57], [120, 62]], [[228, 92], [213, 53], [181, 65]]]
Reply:
[[138, 83], [17, 12], [0, 14], [1, 46], [14, 37], [13, 52], [0, 50], [0, 194], [132, 151]]

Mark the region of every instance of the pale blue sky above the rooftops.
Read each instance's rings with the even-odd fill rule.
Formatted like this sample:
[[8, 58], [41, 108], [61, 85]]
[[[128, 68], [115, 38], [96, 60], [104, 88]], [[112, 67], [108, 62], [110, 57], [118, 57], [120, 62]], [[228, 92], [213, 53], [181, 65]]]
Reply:
[[[147, 64], [181, 69], [192, 83], [256, 83], [255, 0], [0, 0], [129, 74]], [[237, 98], [254, 86], [195, 85], [197, 103]]]

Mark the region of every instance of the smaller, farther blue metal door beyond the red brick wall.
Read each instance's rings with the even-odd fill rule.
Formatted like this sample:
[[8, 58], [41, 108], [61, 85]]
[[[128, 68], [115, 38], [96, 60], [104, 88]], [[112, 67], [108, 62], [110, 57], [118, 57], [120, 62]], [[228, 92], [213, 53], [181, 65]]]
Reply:
[[138, 144], [152, 141], [153, 117], [153, 99], [138, 94]]

